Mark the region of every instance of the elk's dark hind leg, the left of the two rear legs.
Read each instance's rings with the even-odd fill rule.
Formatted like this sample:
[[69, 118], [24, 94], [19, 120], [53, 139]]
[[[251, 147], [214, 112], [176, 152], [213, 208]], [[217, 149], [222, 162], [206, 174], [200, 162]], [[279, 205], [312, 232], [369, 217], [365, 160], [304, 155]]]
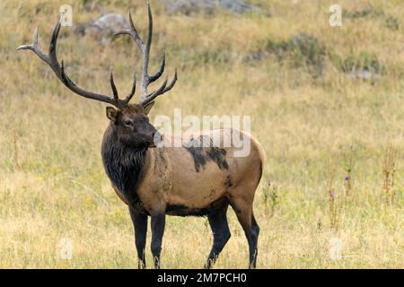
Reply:
[[228, 204], [225, 204], [214, 213], [210, 213], [207, 215], [207, 219], [209, 221], [210, 228], [212, 229], [214, 239], [212, 249], [210, 250], [209, 256], [206, 260], [206, 269], [212, 268], [220, 252], [223, 250], [224, 245], [230, 239], [231, 234], [226, 216], [228, 206]]

